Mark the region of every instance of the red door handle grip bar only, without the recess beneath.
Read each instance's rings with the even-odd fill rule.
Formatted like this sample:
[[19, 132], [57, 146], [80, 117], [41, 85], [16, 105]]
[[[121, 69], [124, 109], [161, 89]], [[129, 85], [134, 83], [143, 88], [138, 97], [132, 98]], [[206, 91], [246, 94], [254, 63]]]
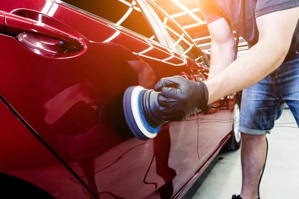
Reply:
[[29, 9], [17, 9], [12, 13], [3, 12], [3, 15], [4, 34], [15, 36], [22, 32], [28, 32], [62, 41], [71, 49], [84, 48], [83, 39], [75, 30], [43, 13]]

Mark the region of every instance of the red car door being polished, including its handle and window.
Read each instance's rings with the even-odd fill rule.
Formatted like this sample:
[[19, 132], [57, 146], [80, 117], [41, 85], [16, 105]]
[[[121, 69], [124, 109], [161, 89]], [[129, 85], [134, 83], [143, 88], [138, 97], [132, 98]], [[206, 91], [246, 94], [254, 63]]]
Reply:
[[141, 141], [122, 99], [130, 86], [190, 76], [188, 61], [156, 42], [163, 39], [134, 0], [67, 2], [79, 8], [54, 0], [0, 5], [0, 95], [95, 198], [171, 196], [198, 169], [196, 116]]

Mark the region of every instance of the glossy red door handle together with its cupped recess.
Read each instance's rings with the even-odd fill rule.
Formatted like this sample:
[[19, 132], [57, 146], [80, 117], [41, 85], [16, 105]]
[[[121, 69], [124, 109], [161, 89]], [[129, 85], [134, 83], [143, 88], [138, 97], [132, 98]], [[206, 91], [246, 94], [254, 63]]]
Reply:
[[30, 9], [3, 12], [6, 35], [15, 36], [32, 52], [56, 58], [78, 56], [86, 50], [83, 38], [72, 28]]

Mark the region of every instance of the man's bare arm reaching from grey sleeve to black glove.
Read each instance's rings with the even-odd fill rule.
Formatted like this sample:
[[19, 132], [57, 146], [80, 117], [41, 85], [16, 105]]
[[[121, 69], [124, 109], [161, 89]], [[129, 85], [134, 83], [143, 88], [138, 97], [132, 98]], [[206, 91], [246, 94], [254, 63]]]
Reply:
[[248, 88], [277, 69], [289, 51], [298, 19], [299, 7], [257, 17], [258, 43], [215, 78], [205, 82], [208, 103]]

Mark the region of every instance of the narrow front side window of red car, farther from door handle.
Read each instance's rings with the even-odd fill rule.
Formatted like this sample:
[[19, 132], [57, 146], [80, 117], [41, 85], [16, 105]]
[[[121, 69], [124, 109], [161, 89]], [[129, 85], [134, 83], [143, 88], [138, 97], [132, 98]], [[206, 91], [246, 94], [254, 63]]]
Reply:
[[195, 44], [185, 35], [185, 33], [160, 10], [153, 6], [164, 27], [169, 33], [176, 50], [182, 55], [186, 55], [199, 63], [204, 63], [202, 54]]

